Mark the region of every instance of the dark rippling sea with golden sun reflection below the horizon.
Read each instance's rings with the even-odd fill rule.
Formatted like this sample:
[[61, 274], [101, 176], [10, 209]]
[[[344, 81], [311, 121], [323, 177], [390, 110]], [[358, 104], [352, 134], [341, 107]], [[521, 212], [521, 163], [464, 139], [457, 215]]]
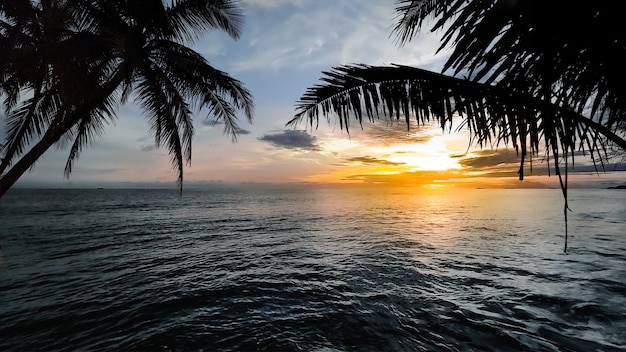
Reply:
[[11, 190], [0, 351], [624, 351], [626, 191]]

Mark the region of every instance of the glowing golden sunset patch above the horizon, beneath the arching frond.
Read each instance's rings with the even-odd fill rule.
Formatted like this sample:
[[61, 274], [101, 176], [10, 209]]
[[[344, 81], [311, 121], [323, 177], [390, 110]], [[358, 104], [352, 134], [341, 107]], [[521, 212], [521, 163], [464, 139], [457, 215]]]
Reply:
[[528, 175], [521, 182], [514, 149], [470, 146], [468, 132], [463, 130], [442, 131], [435, 126], [407, 132], [366, 127], [348, 137], [335, 132], [319, 137], [316, 154], [325, 158], [328, 167], [294, 180], [433, 189], [554, 187], [555, 179], [545, 177], [545, 167], [535, 167], [536, 177]]

